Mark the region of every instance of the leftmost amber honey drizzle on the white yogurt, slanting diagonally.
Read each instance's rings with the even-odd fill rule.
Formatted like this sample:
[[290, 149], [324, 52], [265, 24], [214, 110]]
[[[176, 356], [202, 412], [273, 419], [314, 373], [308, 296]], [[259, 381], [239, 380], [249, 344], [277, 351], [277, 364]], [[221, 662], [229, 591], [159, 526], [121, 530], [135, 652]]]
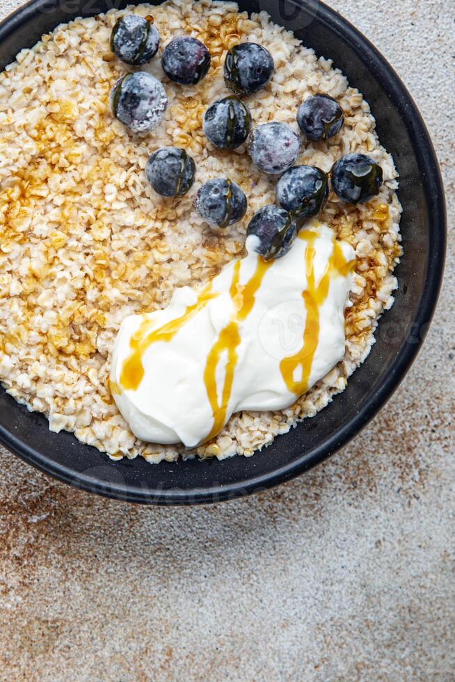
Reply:
[[150, 331], [154, 322], [152, 319], [145, 317], [141, 326], [138, 328], [129, 341], [131, 347], [131, 354], [124, 360], [122, 365], [122, 372], [120, 374], [120, 386], [125, 390], [137, 390], [144, 376], [143, 354], [153, 343], [158, 341], [168, 342], [174, 338], [186, 322], [188, 322], [194, 315], [205, 308], [211, 299], [218, 296], [217, 292], [211, 291], [211, 282], [207, 284], [198, 296], [198, 300], [193, 306], [188, 306], [180, 317], [171, 319], [163, 326]]

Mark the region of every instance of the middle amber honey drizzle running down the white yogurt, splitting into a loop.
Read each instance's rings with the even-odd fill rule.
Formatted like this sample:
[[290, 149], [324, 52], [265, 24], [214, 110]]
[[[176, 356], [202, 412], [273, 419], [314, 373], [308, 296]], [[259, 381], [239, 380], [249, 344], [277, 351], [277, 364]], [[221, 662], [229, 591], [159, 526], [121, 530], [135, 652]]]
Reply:
[[[204, 370], [207, 397], [209, 398], [211, 410], [214, 415], [214, 424], [211, 427], [209, 435], [205, 439], [206, 441], [209, 441], [216, 436], [225, 424], [227, 406], [230, 401], [232, 383], [234, 381], [234, 372], [239, 359], [239, 356], [237, 355], [237, 348], [241, 341], [239, 322], [243, 322], [250, 314], [255, 304], [257, 290], [260, 288], [266, 271], [271, 267], [271, 264], [273, 264], [273, 260], [265, 261], [261, 257], [258, 257], [255, 273], [244, 286], [239, 285], [240, 263], [241, 261], [238, 260], [234, 264], [232, 283], [229, 290], [235, 306], [234, 315], [232, 316], [232, 319], [230, 319], [230, 322], [221, 330], [218, 339], [211, 347]], [[218, 402], [218, 388], [216, 386], [216, 368], [218, 367], [221, 355], [224, 351], [227, 352], [227, 361], [220, 403]]]

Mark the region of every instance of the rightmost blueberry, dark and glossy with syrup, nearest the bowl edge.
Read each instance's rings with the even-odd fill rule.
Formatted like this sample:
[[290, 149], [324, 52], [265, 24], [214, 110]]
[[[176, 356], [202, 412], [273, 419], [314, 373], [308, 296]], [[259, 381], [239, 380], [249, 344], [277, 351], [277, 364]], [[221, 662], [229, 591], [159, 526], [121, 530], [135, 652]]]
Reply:
[[332, 189], [348, 204], [364, 203], [379, 191], [383, 169], [365, 154], [347, 154], [332, 168]]

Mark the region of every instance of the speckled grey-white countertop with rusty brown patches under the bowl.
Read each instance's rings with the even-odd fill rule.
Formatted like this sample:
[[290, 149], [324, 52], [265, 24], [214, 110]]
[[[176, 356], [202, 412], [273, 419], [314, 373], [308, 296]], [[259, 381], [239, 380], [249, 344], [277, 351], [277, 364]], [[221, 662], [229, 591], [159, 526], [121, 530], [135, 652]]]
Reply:
[[[452, 228], [455, 3], [330, 5], [420, 106]], [[132, 507], [0, 448], [0, 679], [455, 680], [454, 275], [452, 237], [436, 318], [388, 409], [273, 491]]]

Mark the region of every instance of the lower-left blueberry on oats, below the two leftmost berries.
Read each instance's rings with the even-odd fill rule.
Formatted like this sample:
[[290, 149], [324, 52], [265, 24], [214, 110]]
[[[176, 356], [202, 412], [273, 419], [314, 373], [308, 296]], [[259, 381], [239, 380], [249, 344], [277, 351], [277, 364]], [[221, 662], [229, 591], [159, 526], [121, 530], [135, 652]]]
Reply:
[[196, 166], [185, 150], [162, 147], [152, 154], [145, 166], [145, 176], [161, 196], [183, 196], [191, 189]]

